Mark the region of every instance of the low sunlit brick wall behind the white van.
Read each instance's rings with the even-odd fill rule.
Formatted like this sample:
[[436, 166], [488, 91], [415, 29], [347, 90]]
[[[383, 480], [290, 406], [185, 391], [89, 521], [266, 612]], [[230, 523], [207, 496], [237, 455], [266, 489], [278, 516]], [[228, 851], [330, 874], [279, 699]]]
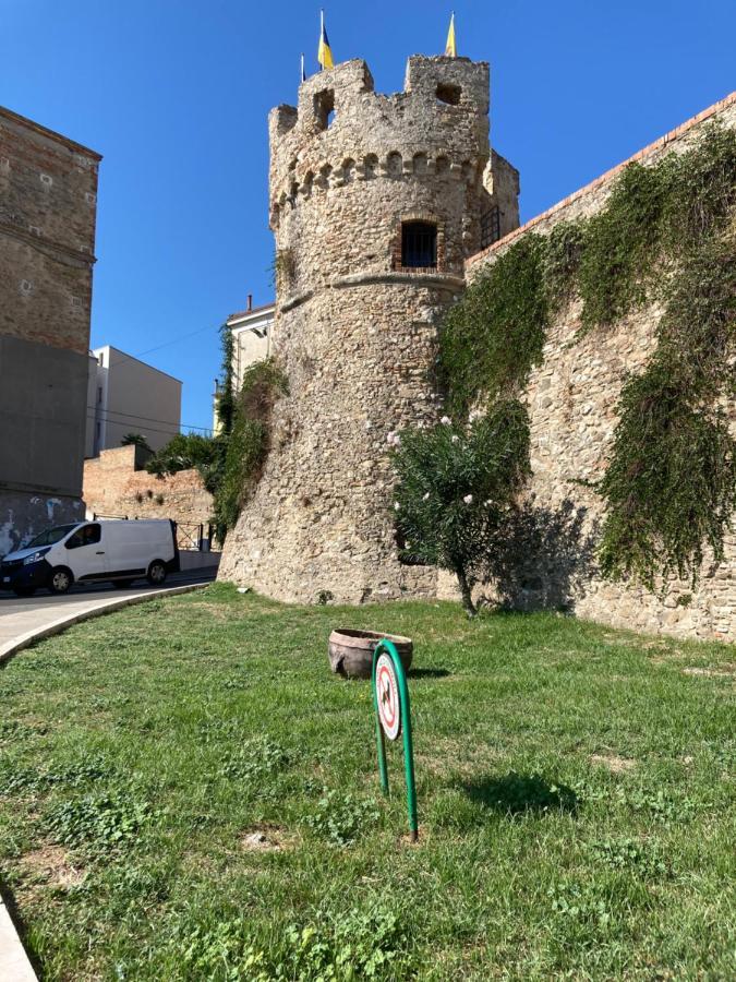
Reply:
[[87, 513], [172, 518], [183, 525], [206, 526], [213, 514], [213, 496], [205, 490], [200, 472], [180, 470], [158, 478], [135, 469], [135, 446], [114, 447], [84, 462]]

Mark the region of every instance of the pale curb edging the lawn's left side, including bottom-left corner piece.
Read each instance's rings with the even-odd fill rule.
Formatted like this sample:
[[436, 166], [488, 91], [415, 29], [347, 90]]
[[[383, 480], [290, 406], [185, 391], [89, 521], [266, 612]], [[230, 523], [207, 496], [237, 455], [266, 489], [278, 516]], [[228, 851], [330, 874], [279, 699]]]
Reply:
[[[122, 610], [124, 607], [133, 607], [136, 603], [145, 603], [146, 600], [154, 600], [156, 597], [176, 597], [178, 594], [191, 594], [194, 590], [202, 590], [209, 586], [208, 583], [192, 583], [180, 587], [169, 587], [162, 590], [152, 590], [148, 594], [140, 594], [134, 597], [123, 597], [119, 600], [108, 600], [98, 603], [89, 610], [81, 610], [67, 616], [58, 618], [44, 627], [36, 631], [27, 631], [12, 642], [4, 644], [0, 648], [0, 664], [3, 664], [20, 650], [27, 648], [36, 640], [50, 637], [52, 634], [60, 634], [64, 628], [71, 627], [72, 624], [79, 624], [80, 621], [88, 621], [92, 618], [98, 618], [114, 610]], [[13, 920], [10, 915], [5, 903], [0, 896], [0, 979], [2, 982], [37, 982], [36, 972], [28, 960], [23, 942], [19, 937]]]

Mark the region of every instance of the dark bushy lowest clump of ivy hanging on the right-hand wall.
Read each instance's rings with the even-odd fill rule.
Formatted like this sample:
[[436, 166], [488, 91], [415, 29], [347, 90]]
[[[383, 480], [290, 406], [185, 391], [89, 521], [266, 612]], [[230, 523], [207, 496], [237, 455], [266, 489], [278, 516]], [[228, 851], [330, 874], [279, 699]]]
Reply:
[[728, 421], [683, 392], [677, 366], [655, 357], [624, 387], [611, 464], [599, 487], [606, 502], [600, 562], [612, 579], [654, 590], [677, 573], [693, 585], [703, 546], [723, 560], [736, 504], [736, 456]]

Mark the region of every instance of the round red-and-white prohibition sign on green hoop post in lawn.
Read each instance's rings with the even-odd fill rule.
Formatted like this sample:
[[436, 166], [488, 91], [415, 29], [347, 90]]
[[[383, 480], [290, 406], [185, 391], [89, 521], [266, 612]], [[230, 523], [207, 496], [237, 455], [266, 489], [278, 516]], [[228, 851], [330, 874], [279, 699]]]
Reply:
[[417, 789], [414, 787], [414, 752], [411, 743], [411, 715], [409, 687], [403, 664], [393, 642], [379, 640], [373, 652], [373, 705], [376, 712], [376, 742], [378, 744], [378, 771], [381, 787], [388, 794], [388, 765], [386, 744], [403, 733], [403, 769], [407, 777], [407, 809], [411, 841], [419, 838], [417, 819]]

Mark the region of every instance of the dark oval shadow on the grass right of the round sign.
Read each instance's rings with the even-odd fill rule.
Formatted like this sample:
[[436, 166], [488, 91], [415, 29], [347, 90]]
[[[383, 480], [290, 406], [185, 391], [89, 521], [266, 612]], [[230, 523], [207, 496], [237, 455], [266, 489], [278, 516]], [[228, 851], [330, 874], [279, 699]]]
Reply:
[[502, 778], [469, 781], [463, 785], [463, 790], [475, 804], [503, 815], [575, 814], [578, 810], [578, 797], [571, 788], [550, 781], [540, 774], [511, 770]]

